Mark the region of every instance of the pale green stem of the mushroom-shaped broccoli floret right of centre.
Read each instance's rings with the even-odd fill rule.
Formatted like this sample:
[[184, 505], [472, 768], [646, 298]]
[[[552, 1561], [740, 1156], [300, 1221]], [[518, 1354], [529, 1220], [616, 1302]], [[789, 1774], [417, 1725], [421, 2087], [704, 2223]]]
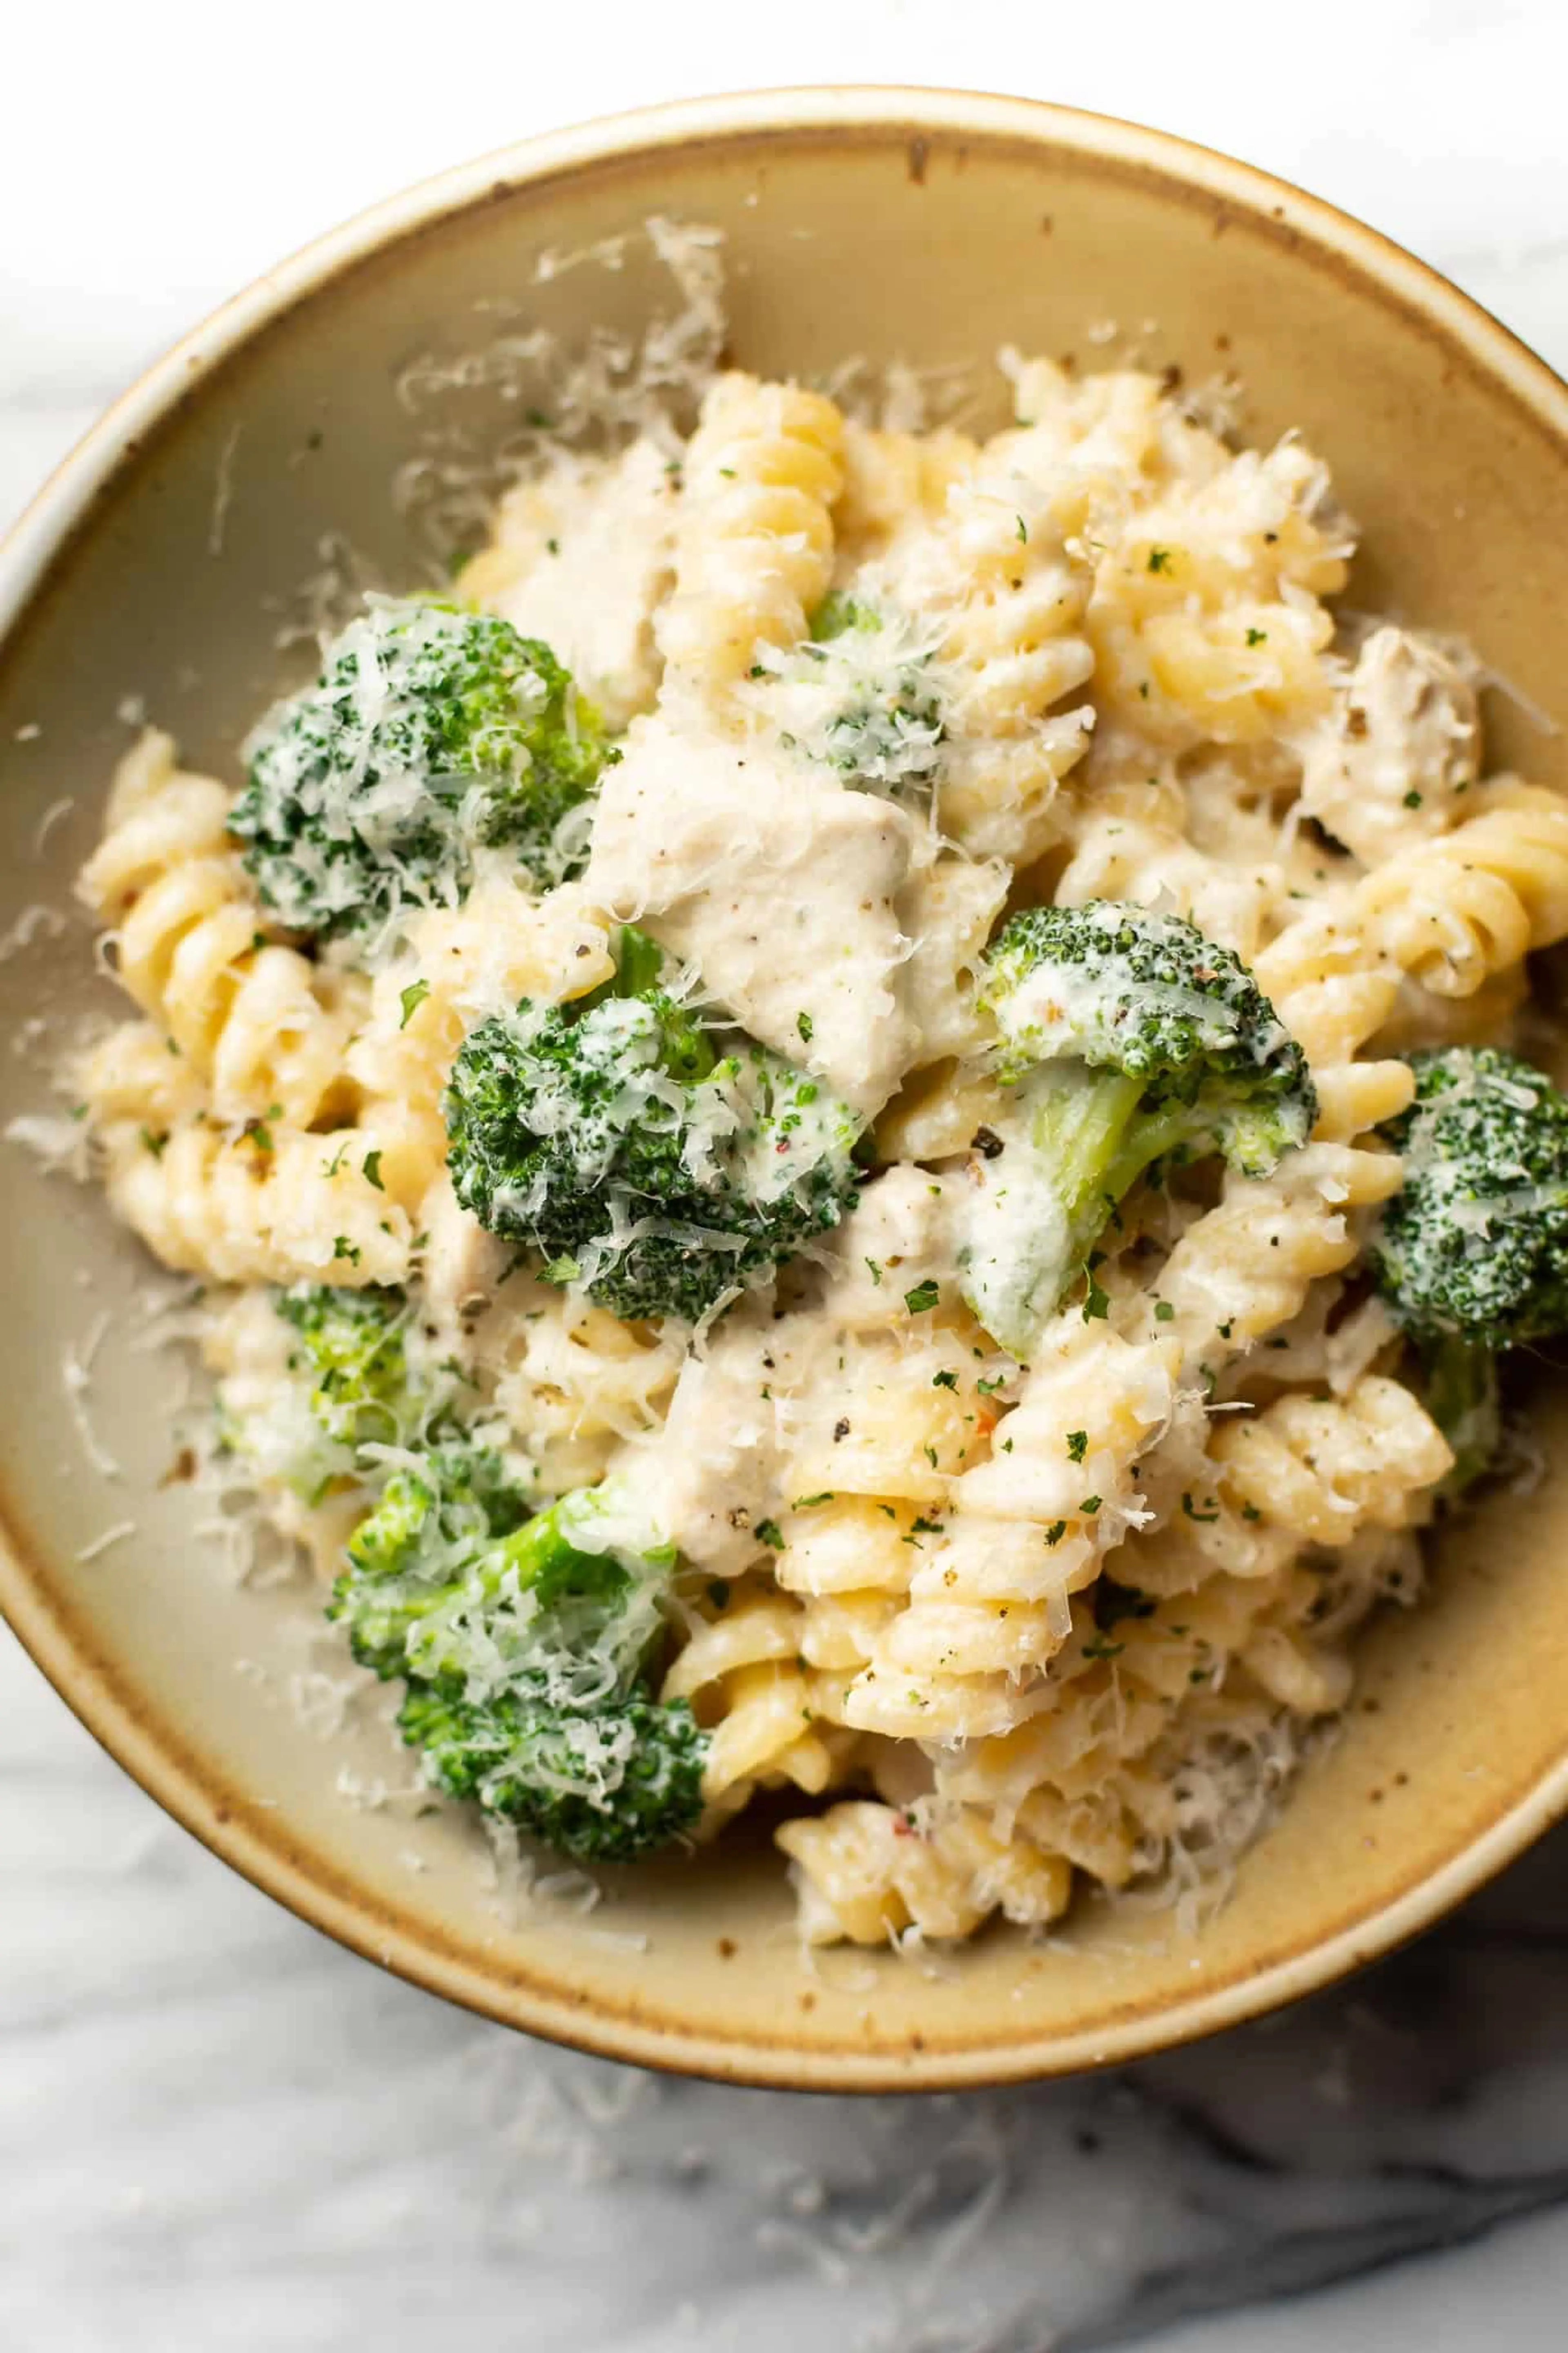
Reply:
[[1070, 1061], [1041, 1064], [1018, 1089], [1018, 1127], [992, 1162], [994, 1214], [964, 1275], [985, 1329], [1023, 1362], [1121, 1195], [1190, 1129], [1182, 1104], [1140, 1115], [1145, 1092], [1145, 1078]]

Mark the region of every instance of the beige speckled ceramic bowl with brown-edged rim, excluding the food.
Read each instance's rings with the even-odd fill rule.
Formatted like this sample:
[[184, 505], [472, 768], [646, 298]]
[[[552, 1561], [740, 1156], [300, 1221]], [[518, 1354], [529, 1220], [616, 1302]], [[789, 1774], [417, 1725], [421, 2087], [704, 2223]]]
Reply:
[[[407, 362], [534, 322], [567, 339], [637, 327], [661, 299], [637, 247], [621, 271], [534, 280], [545, 247], [583, 249], [651, 212], [724, 228], [733, 358], [752, 369], [809, 374], [846, 351], [969, 360], [1004, 341], [1093, 362], [1095, 320], [1135, 327], [1190, 379], [1237, 369], [1251, 431], [1305, 428], [1361, 518], [1352, 598], [1469, 633], [1561, 706], [1568, 393], [1408, 254], [1241, 165], [1048, 106], [896, 89], [710, 99], [395, 198], [221, 311], [61, 468], [0, 558], [5, 939], [28, 904], [66, 904], [125, 696], [233, 774], [277, 685], [277, 614], [296, 609], [322, 534], [409, 576], [388, 485], [430, 412], [397, 398]], [[484, 440], [508, 412], [480, 391], [435, 414]], [[1495, 751], [1568, 784], [1561, 744], [1516, 708], [1495, 713]], [[7, 1040], [94, 986], [80, 929], [7, 955]], [[38, 1108], [35, 1052], [7, 1052], [0, 1073], [5, 1118]], [[534, 2033], [837, 2089], [1126, 2059], [1385, 1951], [1568, 1802], [1568, 1480], [1554, 1468], [1443, 1548], [1425, 1609], [1373, 1628], [1345, 1739], [1199, 1941], [1171, 1920], [1081, 1911], [1060, 1946], [987, 1934], [940, 1977], [891, 1955], [806, 1974], [762, 1842], [649, 1868], [595, 1915], [599, 1934], [505, 1925], [465, 1824], [339, 1795], [343, 1762], [393, 1784], [409, 1772], [378, 1725], [343, 1748], [299, 1727], [287, 1682], [308, 1598], [233, 1591], [193, 1544], [188, 1492], [160, 1485], [167, 1369], [127, 1339], [136, 1252], [96, 1198], [5, 1153], [0, 1264], [0, 1600], [21, 1640], [113, 1755], [256, 1885]], [[94, 1447], [125, 1464], [115, 1480], [92, 1468], [61, 1374], [103, 1308], [125, 1313], [87, 1412]], [[1561, 1464], [1559, 1400], [1542, 1398], [1540, 1428]], [[134, 1529], [80, 1558], [122, 1522]]]

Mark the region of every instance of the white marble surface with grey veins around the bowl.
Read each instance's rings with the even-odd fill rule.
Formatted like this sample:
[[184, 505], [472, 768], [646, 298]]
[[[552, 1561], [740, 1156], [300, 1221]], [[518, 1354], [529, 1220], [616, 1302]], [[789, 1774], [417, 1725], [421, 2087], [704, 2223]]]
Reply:
[[[1561, 0], [468, 0], [442, 73], [430, 21], [458, 24], [407, 0], [7, 24], [0, 515], [160, 344], [360, 202], [769, 80], [1166, 122], [1371, 216], [1568, 365]], [[1371, 1977], [1121, 2078], [722, 2092], [336, 1951], [165, 1821], [0, 1633], [0, 2348], [1556, 2353], [1566, 1866], [1559, 1833]]]

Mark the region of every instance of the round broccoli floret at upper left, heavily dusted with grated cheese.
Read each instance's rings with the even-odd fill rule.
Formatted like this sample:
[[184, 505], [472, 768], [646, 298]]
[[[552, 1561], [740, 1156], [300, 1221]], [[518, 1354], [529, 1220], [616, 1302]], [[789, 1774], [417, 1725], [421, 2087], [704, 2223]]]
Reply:
[[576, 873], [574, 812], [616, 758], [548, 645], [437, 598], [374, 600], [244, 755], [230, 831], [261, 899], [296, 932], [371, 941], [456, 904], [482, 847], [541, 887]]

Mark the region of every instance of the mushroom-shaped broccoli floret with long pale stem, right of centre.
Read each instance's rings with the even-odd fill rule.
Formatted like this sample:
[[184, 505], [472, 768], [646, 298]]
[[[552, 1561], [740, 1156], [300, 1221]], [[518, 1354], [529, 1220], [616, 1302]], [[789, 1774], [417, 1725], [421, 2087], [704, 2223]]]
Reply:
[[1009, 1115], [976, 1162], [959, 1266], [980, 1322], [1027, 1360], [1154, 1160], [1218, 1153], [1262, 1176], [1307, 1141], [1316, 1096], [1246, 965], [1180, 915], [1027, 908], [987, 948], [980, 1002]]

